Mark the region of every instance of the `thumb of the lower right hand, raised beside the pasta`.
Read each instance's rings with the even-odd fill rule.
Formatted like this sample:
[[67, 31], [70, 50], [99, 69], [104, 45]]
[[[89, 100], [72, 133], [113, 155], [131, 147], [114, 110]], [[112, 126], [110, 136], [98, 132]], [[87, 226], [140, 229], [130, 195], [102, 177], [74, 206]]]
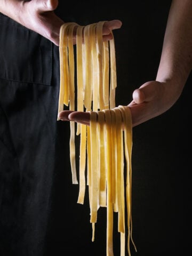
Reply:
[[157, 81], [150, 81], [142, 84], [139, 89], [133, 91], [133, 101], [137, 104], [148, 102], [155, 98], [158, 92], [158, 87], [161, 83]]

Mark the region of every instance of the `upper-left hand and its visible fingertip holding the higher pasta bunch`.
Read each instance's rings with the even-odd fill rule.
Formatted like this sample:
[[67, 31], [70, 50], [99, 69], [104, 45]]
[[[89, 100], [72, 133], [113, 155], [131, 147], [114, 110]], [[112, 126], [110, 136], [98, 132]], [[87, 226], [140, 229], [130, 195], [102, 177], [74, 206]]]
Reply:
[[[60, 27], [64, 21], [54, 13], [57, 7], [58, 0], [1, 0], [0, 12], [59, 46]], [[106, 22], [103, 38], [111, 39], [110, 30], [121, 25], [119, 20]]]

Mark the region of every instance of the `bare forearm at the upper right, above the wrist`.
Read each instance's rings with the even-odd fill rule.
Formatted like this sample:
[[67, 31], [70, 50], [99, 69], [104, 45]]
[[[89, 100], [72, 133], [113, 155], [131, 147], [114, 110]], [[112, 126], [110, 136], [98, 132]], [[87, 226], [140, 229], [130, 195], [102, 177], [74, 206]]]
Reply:
[[[173, 0], [165, 31], [157, 81], [174, 84], [180, 95], [192, 67], [192, 1]], [[177, 86], [175, 86], [177, 85]]]

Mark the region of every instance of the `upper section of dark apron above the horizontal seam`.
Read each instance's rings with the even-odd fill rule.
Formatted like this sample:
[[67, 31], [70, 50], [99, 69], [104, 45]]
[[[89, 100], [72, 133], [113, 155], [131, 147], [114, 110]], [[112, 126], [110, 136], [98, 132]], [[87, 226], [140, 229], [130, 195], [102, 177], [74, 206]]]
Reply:
[[51, 41], [1, 13], [0, 27], [0, 78], [51, 85]]

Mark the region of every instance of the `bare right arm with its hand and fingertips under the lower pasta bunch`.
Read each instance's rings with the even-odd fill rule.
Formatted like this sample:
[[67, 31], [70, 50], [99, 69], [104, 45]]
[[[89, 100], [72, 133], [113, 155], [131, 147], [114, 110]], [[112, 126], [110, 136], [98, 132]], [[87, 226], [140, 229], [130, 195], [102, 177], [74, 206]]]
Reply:
[[[133, 100], [127, 105], [133, 127], [163, 114], [179, 99], [192, 67], [191, 14], [191, 0], [172, 1], [156, 80], [134, 90]], [[90, 124], [90, 113], [64, 110], [58, 117]]]

